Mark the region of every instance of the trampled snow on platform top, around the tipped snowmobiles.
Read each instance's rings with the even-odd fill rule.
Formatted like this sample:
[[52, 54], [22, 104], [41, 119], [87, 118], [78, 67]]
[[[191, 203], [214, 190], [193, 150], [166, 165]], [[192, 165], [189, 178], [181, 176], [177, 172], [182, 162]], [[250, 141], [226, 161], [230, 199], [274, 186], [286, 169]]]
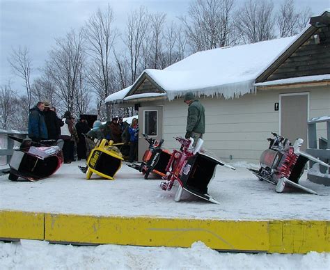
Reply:
[[162, 180], [144, 180], [127, 164], [114, 181], [95, 174], [93, 180], [86, 180], [77, 165], [84, 162], [63, 164], [52, 177], [39, 182], [10, 182], [7, 175], [0, 176], [0, 209], [97, 216], [330, 220], [330, 186], [306, 180], [306, 173], [301, 184], [317, 191], [318, 196], [303, 191], [276, 193], [274, 185], [258, 181], [242, 164], [237, 170], [217, 166], [209, 185], [209, 194], [220, 202], [216, 205], [187, 193], [175, 202], [178, 186], [163, 191], [159, 188]]

